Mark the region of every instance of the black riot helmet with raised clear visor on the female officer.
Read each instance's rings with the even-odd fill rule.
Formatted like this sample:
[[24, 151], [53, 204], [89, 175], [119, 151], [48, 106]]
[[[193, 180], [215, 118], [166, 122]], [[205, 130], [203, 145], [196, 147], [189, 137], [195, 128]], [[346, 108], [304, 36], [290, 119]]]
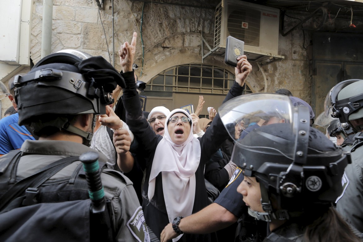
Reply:
[[[261, 112], [276, 112], [278, 118], [236, 140], [231, 126], [241, 118], [261, 117]], [[236, 141], [232, 161], [260, 183], [265, 212], [249, 209], [253, 217], [265, 221], [298, 217], [311, 205], [330, 205], [342, 193], [341, 178], [350, 157], [310, 127], [308, 108], [294, 107], [282, 95], [248, 94], [224, 103], [219, 114]], [[272, 197], [278, 209], [273, 208]]]

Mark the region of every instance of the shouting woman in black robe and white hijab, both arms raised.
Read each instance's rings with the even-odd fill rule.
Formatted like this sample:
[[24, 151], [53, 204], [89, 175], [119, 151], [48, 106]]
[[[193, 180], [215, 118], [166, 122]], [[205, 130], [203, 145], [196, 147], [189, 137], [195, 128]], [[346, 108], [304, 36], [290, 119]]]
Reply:
[[[177, 218], [191, 215], [208, 205], [204, 182], [204, 164], [229, 136], [219, 115], [201, 138], [193, 137], [191, 116], [181, 109], [171, 111], [166, 117], [164, 136], [150, 129], [142, 114], [139, 95], [132, 70], [136, 36], [131, 45], [125, 42], [119, 50], [120, 65], [125, 79], [122, 102], [126, 109], [126, 123], [139, 143], [138, 162], [146, 165], [146, 178], [142, 191], [142, 208], [147, 225], [160, 239], [163, 228]], [[244, 82], [252, 70], [246, 56], [237, 58], [236, 82], [225, 101], [242, 94]], [[224, 101], [224, 102], [225, 102]], [[123, 146], [114, 132], [118, 152]], [[175, 231], [178, 231], [176, 226]], [[210, 234], [183, 234], [173, 241], [211, 241]]]

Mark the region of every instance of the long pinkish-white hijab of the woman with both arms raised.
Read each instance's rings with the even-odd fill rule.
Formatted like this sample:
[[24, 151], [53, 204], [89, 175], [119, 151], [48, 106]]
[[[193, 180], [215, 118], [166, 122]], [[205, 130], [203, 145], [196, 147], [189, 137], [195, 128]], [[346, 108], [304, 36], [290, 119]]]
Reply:
[[[175, 109], [166, 117], [168, 119], [176, 112], [181, 112], [192, 119], [183, 109]], [[183, 144], [175, 144], [169, 135], [167, 124], [164, 127], [164, 137], [156, 147], [152, 162], [149, 189], [149, 200], [154, 196], [156, 176], [162, 173], [163, 192], [169, 222], [178, 216], [192, 214], [195, 198], [195, 172], [200, 161], [200, 143], [193, 136], [193, 123], [188, 139]], [[181, 235], [173, 239], [178, 241]]]

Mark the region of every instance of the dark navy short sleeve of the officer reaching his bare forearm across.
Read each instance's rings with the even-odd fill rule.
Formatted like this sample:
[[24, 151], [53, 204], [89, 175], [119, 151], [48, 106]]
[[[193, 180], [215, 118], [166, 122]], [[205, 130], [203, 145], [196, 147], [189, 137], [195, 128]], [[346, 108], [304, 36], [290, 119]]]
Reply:
[[214, 201], [215, 203], [221, 205], [223, 208], [227, 209], [229, 212], [233, 213], [236, 217], [242, 216], [242, 209], [246, 206], [245, 202], [242, 200], [242, 194], [237, 192], [238, 185], [243, 181], [244, 176], [242, 174], [242, 169], [237, 169], [229, 180], [228, 185], [222, 190], [221, 194]]

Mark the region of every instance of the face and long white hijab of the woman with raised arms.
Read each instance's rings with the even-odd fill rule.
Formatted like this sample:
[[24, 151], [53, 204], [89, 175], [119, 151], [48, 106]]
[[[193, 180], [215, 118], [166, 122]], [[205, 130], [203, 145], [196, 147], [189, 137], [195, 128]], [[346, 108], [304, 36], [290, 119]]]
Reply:
[[[164, 200], [168, 221], [172, 222], [178, 216], [192, 214], [196, 187], [204, 183], [204, 164], [200, 163], [200, 143], [193, 136], [192, 118], [188, 112], [175, 109], [166, 120], [164, 137], [156, 147], [148, 178], [147, 197], [149, 201]], [[198, 168], [202, 179], [197, 185]], [[161, 179], [157, 181], [159, 174]]]

